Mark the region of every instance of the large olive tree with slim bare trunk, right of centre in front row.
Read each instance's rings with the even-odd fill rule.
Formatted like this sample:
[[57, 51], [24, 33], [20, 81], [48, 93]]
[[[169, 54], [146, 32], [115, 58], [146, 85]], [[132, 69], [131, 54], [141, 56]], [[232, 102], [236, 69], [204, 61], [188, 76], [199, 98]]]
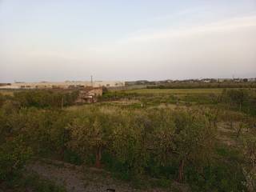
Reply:
[[198, 112], [178, 111], [174, 118], [174, 152], [179, 161], [178, 181], [182, 182], [186, 163], [200, 168], [212, 157], [215, 128]]

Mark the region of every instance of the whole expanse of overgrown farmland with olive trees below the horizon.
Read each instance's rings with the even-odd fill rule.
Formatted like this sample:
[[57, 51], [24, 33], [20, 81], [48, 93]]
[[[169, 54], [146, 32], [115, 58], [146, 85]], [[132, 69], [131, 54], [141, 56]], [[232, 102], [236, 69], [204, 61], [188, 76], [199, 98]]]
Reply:
[[76, 96], [0, 94], [0, 189], [255, 191], [256, 90]]

